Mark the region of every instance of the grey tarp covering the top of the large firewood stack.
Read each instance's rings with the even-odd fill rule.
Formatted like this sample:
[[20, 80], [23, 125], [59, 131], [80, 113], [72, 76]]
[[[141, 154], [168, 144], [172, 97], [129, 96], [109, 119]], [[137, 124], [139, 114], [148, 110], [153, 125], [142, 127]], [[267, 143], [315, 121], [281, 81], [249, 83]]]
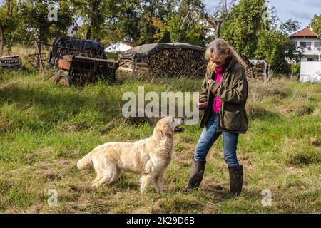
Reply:
[[119, 53], [119, 58], [137, 59], [139, 61], [142, 58], [151, 56], [153, 53], [163, 49], [193, 49], [198, 51], [206, 50], [200, 46], [194, 46], [186, 43], [151, 43], [131, 48], [131, 50], [128, 51], [121, 51]]

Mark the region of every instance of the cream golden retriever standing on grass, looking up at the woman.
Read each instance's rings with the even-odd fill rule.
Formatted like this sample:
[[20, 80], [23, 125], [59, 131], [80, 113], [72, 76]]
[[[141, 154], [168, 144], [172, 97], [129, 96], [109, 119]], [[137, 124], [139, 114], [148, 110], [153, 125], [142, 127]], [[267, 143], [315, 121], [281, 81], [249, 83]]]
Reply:
[[99, 187], [116, 181], [123, 172], [141, 175], [141, 193], [154, 180], [155, 189], [163, 193], [163, 175], [174, 150], [175, 132], [183, 129], [183, 118], [166, 117], [158, 121], [150, 138], [137, 142], [108, 142], [99, 145], [77, 162], [79, 170], [93, 167], [96, 179], [91, 186]]

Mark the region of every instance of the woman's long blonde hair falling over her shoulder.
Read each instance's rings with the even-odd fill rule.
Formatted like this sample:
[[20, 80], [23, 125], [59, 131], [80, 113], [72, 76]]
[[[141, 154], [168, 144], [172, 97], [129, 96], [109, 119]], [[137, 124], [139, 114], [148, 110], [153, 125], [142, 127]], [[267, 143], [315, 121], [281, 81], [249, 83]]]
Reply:
[[[232, 56], [235, 58], [235, 60], [240, 63], [244, 68], [246, 68], [246, 63], [243, 61], [243, 58], [234, 50], [232, 46], [229, 46], [228, 43], [223, 40], [222, 38], [216, 38], [212, 43], [210, 43], [210, 46], [208, 46], [208, 49], [205, 52], [205, 58], [210, 60], [211, 58], [220, 58], [219, 56], [225, 54], [228, 51], [228, 56]], [[208, 70], [210, 72], [215, 71], [216, 64], [212, 61], [209, 61], [208, 63]]]

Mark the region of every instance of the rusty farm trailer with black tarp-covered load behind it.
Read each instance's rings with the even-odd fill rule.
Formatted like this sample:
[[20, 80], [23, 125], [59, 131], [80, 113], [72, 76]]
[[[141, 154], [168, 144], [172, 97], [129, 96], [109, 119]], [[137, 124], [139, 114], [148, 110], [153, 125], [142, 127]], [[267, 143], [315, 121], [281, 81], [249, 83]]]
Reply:
[[116, 82], [116, 70], [119, 63], [107, 60], [101, 43], [78, 38], [57, 37], [51, 44], [41, 44], [50, 46], [48, 67], [58, 70], [54, 78], [58, 85], [83, 86], [98, 80], [108, 83]]

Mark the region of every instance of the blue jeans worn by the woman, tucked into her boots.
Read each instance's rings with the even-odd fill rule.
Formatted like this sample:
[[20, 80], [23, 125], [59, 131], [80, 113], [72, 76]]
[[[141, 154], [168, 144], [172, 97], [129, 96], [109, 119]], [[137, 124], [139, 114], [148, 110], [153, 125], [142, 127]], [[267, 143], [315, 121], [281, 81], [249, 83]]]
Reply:
[[206, 123], [198, 145], [194, 152], [196, 162], [205, 162], [210, 147], [223, 134], [224, 160], [229, 167], [238, 166], [236, 148], [238, 146], [239, 133], [218, 132], [218, 113], [212, 112], [208, 123]]

